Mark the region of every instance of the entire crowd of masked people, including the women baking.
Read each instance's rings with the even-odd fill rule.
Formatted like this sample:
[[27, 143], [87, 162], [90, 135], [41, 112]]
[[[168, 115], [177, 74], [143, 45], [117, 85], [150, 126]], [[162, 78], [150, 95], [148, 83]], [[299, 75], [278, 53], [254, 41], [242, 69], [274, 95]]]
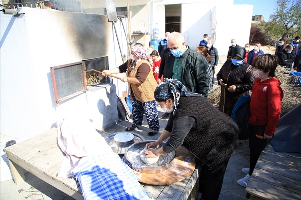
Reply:
[[[225, 169], [238, 145], [240, 130], [231, 118], [234, 106], [241, 96], [249, 96], [252, 91], [247, 124], [250, 164], [242, 169], [246, 176], [237, 181], [246, 187], [280, 119], [283, 91], [280, 81], [274, 77], [276, 67], [278, 63], [289, 67], [295, 62], [292, 69], [300, 70], [299, 41], [300, 37], [295, 37], [286, 44], [281, 39], [275, 54], [271, 55], [260, 49], [260, 43], [250, 50], [250, 44], [242, 47], [232, 39], [227, 60], [216, 74], [221, 87], [217, 109], [207, 101], [219, 61], [218, 51], [208, 34], [203, 35], [193, 50], [186, 45], [181, 33], [166, 32], [158, 51], [148, 55], [138, 43], [132, 47], [129, 60], [103, 71], [102, 75], [126, 73], [121, 81], [129, 85], [133, 110], [133, 122], [126, 131], [139, 129], [145, 114], [150, 128], [148, 135], [155, 135], [159, 131], [159, 118], [169, 117], [159, 138], [146, 144], [145, 155], [157, 157], [184, 145], [202, 163], [199, 187], [202, 199], [218, 199]], [[158, 106], [165, 112], [160, 117]]]

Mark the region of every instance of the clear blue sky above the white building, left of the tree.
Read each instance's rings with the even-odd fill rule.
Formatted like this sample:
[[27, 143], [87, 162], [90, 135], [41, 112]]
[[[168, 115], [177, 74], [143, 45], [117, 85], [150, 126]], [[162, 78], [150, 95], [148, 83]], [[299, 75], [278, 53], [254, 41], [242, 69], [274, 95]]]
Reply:
[[253, 16], [263, 15], [264, 21], [268, 22], [275, 12], [277, 0], [234, 0], [234, 5], [253, 5]]

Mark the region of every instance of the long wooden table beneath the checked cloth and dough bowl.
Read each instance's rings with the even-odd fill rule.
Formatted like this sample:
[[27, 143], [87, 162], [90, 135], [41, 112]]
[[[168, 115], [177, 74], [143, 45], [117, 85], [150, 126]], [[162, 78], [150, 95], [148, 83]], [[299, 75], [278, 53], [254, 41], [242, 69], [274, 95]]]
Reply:
[[[74, 199], [82, 199], [73, 178], [56, 177], [64, 158], [57, 144], [56, 128], [5, 148], [5, 154], [9, 159], [15, 184], [25, 181], [25, 169]], [[154, 199], [194, 199], [197, 195], [195, 188], [198, 188], [199, 167], [181, 182], [170, 185], [141, 185]]]

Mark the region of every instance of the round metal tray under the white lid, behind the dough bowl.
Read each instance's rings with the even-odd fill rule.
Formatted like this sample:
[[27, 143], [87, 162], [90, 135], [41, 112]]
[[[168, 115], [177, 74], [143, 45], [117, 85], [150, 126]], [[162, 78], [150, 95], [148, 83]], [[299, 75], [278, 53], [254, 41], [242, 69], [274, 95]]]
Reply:
[[131, 133], [134, 135], [134, 138], [128, 142], [118, 142], [114, 139], [114, 136], [116, 134], [119, 134], [122, 132], [116, 132], [113, 134], [110, 134], [106, 137], [104, 137], [105, 141], [107, 142], [107, 144], [112, 148], [114, 153], [118, 153], [119, 155], [124, 155], [127, 148], [136, 143], [136, 142], [140, 142], [140, 141], [144, 141], [144, 137], [142, 137], [141, 135], [137, 134], [137, 133], [133, 133], [133, 132], [126, 132], [126, 133]]

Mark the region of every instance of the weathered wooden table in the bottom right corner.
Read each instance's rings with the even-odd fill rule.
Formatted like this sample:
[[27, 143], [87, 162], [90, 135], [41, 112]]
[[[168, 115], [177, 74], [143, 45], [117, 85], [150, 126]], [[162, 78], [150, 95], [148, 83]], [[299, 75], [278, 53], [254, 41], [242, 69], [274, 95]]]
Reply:
[[268, 144], [246, 191], [250, 199], [301, 199], [301, 159], [275, 152]]

